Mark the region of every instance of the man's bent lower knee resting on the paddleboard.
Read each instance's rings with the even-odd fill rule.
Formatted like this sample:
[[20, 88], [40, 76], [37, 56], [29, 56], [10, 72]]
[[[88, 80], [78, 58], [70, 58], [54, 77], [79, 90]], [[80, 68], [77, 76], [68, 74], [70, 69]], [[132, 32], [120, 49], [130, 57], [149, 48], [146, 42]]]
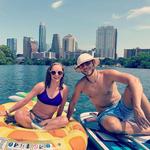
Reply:
[[122, 126], [119, 119], [115, 117], [109, 117], [102, 121], [102, 126], [109, 132], [120, 133], [122, 132]]

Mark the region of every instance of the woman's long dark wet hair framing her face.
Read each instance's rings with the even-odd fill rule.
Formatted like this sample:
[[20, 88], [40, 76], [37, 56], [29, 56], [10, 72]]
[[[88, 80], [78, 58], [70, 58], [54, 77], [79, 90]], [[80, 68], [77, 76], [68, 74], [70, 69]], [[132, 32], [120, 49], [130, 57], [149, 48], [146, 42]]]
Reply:
[[64, 66], [61, 63], [53, 63], [51, 64], [51, 66], [48, 67], [47, 72], [46, 72], [46, 79], [45, 79], [45, 88], [50, 88], [51, 85], [51, 73], [50, 71], [52, 70], [53, 66], [55, 65], [60, 65], [62, 67], [62, 71], [63, 71], [63, 76], [60, 79], [60, 84], [59, 84], [59, 89], [62, 90], [63, 89], [63, 83], [64, 83]]

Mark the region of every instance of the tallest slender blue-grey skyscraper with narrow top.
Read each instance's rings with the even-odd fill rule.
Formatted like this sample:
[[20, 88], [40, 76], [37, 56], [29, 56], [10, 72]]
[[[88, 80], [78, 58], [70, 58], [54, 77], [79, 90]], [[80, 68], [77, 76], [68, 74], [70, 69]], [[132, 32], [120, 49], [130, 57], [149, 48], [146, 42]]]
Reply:
[[46, 51], [46, 27], [45, 24], [40, 23], [39, 26], [39, 52]]

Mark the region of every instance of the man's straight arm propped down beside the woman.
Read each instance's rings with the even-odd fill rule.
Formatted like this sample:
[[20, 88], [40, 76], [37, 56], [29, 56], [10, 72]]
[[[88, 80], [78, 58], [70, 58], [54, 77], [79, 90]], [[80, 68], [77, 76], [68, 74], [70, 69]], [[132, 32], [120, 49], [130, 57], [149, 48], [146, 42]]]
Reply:
[[75, 87], [73, 96], [71, 98], [71, 101], [70, 101], [70, 104], [69, 104], [69, 107], [68, 107], [68, 112], [67, 112], [68, 120], [70, 120], [70, 117], [72, 116], [72, 114], [74, 112], [74, 107], [75, 107], [77, 101], [79, 100], [81, 89], [82, 89], [81, 85], [80, 85], [80, 83], [78, 83]]

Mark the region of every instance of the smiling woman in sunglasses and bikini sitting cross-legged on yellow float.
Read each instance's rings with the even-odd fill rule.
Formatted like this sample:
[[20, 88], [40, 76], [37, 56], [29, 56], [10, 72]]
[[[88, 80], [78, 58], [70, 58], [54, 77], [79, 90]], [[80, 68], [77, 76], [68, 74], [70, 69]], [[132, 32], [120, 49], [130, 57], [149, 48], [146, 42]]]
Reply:
[[[68, 88], [63, 84], [63, 78], [62, 64], [53, 63], [47, 69], [45, 83], [37, 83], [23, 100], [17, 102], [3, 115], [16, 111], [16, 122], [25, 128], [34, 128], [35, 125], [46, 130], [64, 127], [68, 123], [68, 119], [61, 114], [67, 100]], [[24, 109], [23, 106], [35, 96], [38, 100], [32, 110]], [[56, 111], [56, 117], [52, 118]]]

